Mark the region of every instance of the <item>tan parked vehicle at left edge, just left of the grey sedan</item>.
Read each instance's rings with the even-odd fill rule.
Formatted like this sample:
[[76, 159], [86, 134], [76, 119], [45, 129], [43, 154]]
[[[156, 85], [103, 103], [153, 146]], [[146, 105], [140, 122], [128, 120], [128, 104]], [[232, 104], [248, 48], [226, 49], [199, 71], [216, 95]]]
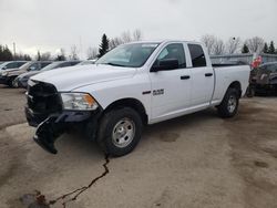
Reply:
[[1, 84], [6, 84], [12, 87], [13, 81], [18, 75], [29, 71], [39, 71], [50, 63], [51, 61], [30, 61], [21, 65], [20, 67], [4, 70], [4, 72], [1, 73]]

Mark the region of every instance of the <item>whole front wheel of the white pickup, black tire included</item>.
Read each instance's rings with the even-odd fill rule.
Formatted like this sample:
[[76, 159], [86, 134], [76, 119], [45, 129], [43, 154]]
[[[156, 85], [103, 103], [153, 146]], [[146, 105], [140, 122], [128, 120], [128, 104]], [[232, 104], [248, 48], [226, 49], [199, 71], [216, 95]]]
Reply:
[[[125, 128], [121, 126], [122, 128], [124, 128], [122, 131], [120, 128], [120, 125], [130, 126]], [[117, 131], [117, 127], [123, 133], [123, 135], [120, 135], [121, 139], [119, 141], [116, 138], [117, 135], [114, 136], [114, 134], [121, 134], [121, 132]], [[133, 136], [126, 136], [127, 131], [132, 131], [132, 128], [134, 131], [134, 133], [132, 134]], [[123, 107], [119, 110], [112, 110], [105, 113], [100, 122], [100, 127], [98, 131], [98, 143], [105, 154], [115, 157], [123, 156], [131, 153], [136, 147], [142, 136], [142, 118], [133, 108]], [[126, 132], [125, 135], [124, 132]], [[121, 144], [119, 144], [123, 137], [123, 143], [126, 138], [129, 139], [127, 142], [125, 142], [126, 144], [124, 144], [126, 146], [120, 146]]]

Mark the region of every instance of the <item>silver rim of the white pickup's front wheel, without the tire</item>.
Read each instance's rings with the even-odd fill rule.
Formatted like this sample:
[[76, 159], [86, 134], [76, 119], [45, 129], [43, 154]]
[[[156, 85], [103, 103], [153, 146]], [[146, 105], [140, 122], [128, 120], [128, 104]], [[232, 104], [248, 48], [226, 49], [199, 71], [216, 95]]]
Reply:
[[124, 148], [132, 143], [134, 135], [134, 122], [129, 118], [122, 118], [113, 128], [112, 142], [116, 147]]

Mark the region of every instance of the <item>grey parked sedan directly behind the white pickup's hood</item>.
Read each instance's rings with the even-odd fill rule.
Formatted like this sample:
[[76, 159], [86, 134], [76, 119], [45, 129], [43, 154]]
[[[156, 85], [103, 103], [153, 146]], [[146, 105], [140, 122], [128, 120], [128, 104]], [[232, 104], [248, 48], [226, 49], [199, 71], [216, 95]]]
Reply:
[[59, 69], [59, 67], [73, 66], [73, 65], [79, 64], [79, 63], [80, 63], [80, 61], [59, 61], [59, 62], [53, 62], [53, 63], [49, 64], [48, 66], [43, 67], [40, 71], [30, 71], [30, 72], [27, 72], [27, 73], [23, 73], [23, 74], [19, 75], [16, 79], [17, 83], [14, 83], [14, 84], [17, 85], [17, 87], [27, 89], [28, 80], [31, 76], [33, 76], [33, 75], [35, 75], [38, 73], [50, 71], [50, 70], [54, 70], [54, 69]]

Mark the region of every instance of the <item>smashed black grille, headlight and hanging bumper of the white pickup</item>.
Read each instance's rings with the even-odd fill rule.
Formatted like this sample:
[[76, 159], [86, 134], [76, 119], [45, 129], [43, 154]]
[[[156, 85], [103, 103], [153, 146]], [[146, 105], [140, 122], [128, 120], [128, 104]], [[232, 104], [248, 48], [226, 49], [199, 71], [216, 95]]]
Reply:
[[57, 154], [54, 143], [69, 128], [76, 125], [88, 128], [93, 124], [89, 127], [89, 136], [95, 136], [95, 118], [100, 111], [89, 96], [85, 93], [61, 94], [52, 84], [30, 81], [25, 117], [30, 126], [37, 127], [33, 139], [47, 152]]

